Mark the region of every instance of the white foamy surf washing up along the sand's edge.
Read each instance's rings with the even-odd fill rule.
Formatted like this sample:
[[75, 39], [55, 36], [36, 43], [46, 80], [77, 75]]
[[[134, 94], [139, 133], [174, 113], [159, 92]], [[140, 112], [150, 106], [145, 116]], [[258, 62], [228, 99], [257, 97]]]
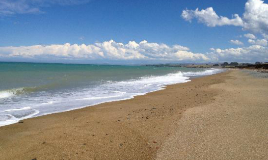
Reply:
[[[54, 92], [39, 91], [30, 87], [4, 90], [0, 91], [0, 98], [5, 100], [5, 105], [0, 108], [0, 126], [30, 117], [131, 99], [137, 95], [164, 89], [169, 84], [188, 82], [192, 76], [206, 76], [219, 72], [222, 70], [205, 69], [198, 72], [177, 71], [163, 76], [143, 76], [129, 80], [101, 80], [101, 83], [93, 86]], [[32, 93], [30, 91], [33, 89], [37, 92], [24, 94]], [[10, 101], [16, 103], [8, 104]]]

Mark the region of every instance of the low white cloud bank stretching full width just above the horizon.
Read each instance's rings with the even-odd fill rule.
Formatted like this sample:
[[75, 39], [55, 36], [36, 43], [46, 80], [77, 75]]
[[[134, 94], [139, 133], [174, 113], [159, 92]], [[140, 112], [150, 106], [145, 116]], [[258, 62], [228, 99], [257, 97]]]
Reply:
[[[254, 41], [254, 40], [253, 40]], [[258, 43], [258, 41], [254, 41]], [[268, 61], [268, 48], [261, 45], [237, 49], [211, 49], [209, 53], [192, 53], [189, 48], [166, 44], [130, 41], [128, 44], [117, 43], [113, 40], [92, 45], [36, 45], [21, 47], [0, 47], [0, 59], [8, 60], [78, 60], [88, 62], [117, 62], [127, 63], [156, 63], [156, 62], [217, 62], [239, 61], [254, 62]]]

